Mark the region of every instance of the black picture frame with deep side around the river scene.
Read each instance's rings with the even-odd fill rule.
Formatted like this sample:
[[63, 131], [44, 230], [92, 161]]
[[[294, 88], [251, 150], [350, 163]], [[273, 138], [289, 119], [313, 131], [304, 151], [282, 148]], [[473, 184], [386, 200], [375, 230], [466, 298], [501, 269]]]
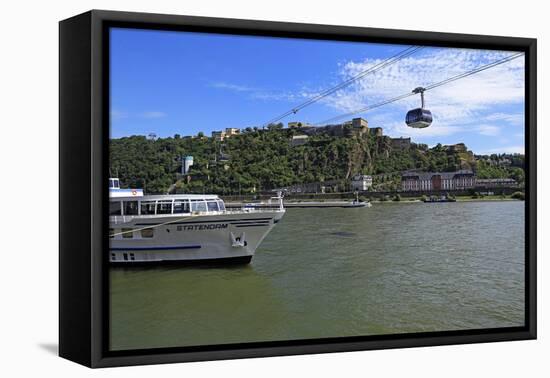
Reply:
[[[473, 331], [108, 350], [110, 27], [525, 52], [525, 326]], [[536, 338], [536, 39], [92, 10], [59, 24], [59, 354], [89, 367]]]

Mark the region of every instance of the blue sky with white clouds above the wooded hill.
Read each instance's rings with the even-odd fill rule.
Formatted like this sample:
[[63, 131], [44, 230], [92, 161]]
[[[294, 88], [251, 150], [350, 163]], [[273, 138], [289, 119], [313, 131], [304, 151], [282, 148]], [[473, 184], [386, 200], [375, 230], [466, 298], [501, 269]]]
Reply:
[[[111, 31], [111, 137], [210, 135], [261, 126], [408, 46], [186, 32]], [[282, 120], [323, 120], [406, 93], [510, 52], [426, 47]], [[434, 122], [406, 127], [411, 97], [359, 114], [393, 137], [523, 152], [523, 58], [426, 92]]]

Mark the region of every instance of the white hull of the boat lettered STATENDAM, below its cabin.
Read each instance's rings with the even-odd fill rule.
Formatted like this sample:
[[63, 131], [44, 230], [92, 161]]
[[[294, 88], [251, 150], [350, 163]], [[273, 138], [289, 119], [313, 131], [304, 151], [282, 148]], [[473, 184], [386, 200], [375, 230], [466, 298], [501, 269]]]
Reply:
[[109, 261], [246, 264], [283, 214], [284, 210], [110, 217]]

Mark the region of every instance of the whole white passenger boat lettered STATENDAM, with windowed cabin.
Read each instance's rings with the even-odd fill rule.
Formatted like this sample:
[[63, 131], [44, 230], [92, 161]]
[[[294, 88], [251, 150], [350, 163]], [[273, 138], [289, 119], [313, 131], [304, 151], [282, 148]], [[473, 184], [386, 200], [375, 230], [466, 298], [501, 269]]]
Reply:
[[109, 181], [110, 262], [249, 263], [285, 209], [226, 210], [217, 195], [144, 195]]

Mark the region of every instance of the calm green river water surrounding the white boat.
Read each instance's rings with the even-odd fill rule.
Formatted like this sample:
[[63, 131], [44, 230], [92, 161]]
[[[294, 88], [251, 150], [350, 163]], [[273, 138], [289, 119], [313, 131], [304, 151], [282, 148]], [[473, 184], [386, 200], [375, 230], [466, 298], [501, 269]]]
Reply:
[[111, 349], [521, 326], [524, 205], [289, 209], [247, 266], [111, 268]]

